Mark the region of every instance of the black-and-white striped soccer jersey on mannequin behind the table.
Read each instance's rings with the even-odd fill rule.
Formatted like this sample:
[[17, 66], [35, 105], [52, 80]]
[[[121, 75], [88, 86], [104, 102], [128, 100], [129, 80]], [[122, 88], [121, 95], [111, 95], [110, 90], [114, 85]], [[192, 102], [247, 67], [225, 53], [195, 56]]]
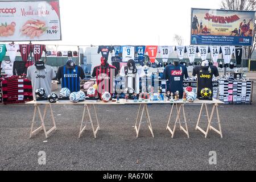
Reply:
[[125, 78], [125, 88], [133, 88], [139, 94], [139, 78], [146, 76], [142, 67], [130, 70], [127, 66], [122, 67], [120, 75]]

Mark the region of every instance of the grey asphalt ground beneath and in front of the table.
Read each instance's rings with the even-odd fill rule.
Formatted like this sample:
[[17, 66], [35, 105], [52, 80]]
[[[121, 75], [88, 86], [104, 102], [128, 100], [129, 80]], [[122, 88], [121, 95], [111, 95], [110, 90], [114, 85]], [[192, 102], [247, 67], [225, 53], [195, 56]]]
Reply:
[[[148, 106], [155, 138], [146, 125], [136, 138], [133, 125], [138, 106], [130, 105], [97, 106], [101, 126], [97, 139], [92, 130], [79, 139], [82, 109], [53, 106], [57, 131], [48, 139], [43, 133], [29, 139], [33, 106], [0, 105], [0, 170], [256, 169], [255, 103], [219, 107], [222, 139], [213, 131], [205, 139], [195, 130], [200, 106], [185, 106], [190, 138], [178, 129], [172, 139], [166, 130], [170, 105]], [[203, 122], [202, 127], [207, 127], [205, 113]], [[46, 152], [46, 165], [39, 165], [39, 151]], [[210, 151], [217, 154], [216, 165], [209, 164]]]

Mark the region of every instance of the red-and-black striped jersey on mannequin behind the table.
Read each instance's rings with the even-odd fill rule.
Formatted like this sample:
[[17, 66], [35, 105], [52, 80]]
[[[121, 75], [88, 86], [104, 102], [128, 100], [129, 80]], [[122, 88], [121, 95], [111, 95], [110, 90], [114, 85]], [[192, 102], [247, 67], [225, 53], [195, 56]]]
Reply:
[[105, 67], [101, 65], [94, 67], [92, 77], [96, 77], [100, 96], [103, 92], [115, 93], [114, 78], [117, 74], [117, 68], [109, 64]]

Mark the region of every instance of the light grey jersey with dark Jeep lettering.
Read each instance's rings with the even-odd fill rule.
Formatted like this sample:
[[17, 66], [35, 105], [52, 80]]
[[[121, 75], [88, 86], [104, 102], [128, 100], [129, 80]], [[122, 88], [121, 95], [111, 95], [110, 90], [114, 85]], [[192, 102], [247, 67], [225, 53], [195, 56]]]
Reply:
[[32, 82], [34, 100], [36, 100], [36, 89], [43, 88], [46, 90], [46, 96], [51, 93], [52, 79], [55, 78], [55, 72], [52, 67], [44, 66], [46, 69], [36, 69], [35, 65], [27, 69], [27, 78]]

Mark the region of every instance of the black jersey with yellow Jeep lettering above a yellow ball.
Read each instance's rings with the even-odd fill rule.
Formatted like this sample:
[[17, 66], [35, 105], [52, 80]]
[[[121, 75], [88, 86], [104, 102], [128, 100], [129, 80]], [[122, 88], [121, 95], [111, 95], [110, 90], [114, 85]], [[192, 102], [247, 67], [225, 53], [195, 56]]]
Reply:
[[[193, 69], [193, 76], [197, 75], [197, 98], [201, 99], [201, 90], [209, 88], [213, 95], [212, 78], [219, 76], [218, 69], [215, 66], [210, 65], [209, 67], [196, 66]], [[209, 100], [212, 100], [212, 95]]]

